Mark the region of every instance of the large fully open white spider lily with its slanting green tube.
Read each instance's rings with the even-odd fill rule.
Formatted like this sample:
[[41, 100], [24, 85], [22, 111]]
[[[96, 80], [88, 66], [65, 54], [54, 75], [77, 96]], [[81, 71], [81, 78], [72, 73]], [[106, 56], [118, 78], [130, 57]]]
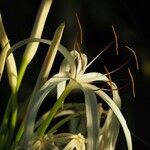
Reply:
[[[32, 115], [35, 116], [37, 110], [39, 109], [47, 94], [50, 93], [56, 86], [58, 87], [58, 99], [52, 107], [46, 120], [43, 121], [39, 129], [36, 131], [36, 134], [39, 137], [44, 135], [46, 129], [48, 128], [52, 119], [56, 115], [57, 110], [63, 105], [66, 96], [72, 90], [79, 88], [83, 91], [85, 95], [87, 119], [87, 149], [97, 150], [100, 147], [114, 149], [119, 132], [120, 123], [125, 133], [128, 149], [132, 150], [131, 134], [127, 127], [126, 121], [122, 113], [120, 112], [121, 100], [115, 83], [111, 82], [110, 84], [110, 80], [106, 77], [105, 74], [101, 74], [98, 72], [85, 73], [86, 69], [89, 66], [87, 64], [87, 56], [85, 54], [79, 54], [75, 50], [71, 51], [70, 54], [66, 53], [67, 51], [65, 51], [65, 49], [61, 49], [60, 51], [66, 57], [66, 59], [64, 59], [61, 64], [60, 72], [51, 77], [48, 81], [46, 81], [46, 83], [37, 91], [34, 97], [36, 103], [33, 104], [32, 111], [29, 114], [30, 118], [32, 118]], [[70, 64], [75, 64], [76, 67], [73, 66], [72, 68]], [[66, 83], [67, 80], [70, 81], [68, 84]], [[95, 86], [93, 83], [96, 81], [110, 84], [112, 88], [113, 98], [110, 98], [110, 96], [108, 96], [107, 93], [105, 93], [99, 87]], [[99, 120], [100, 114], [98, 113], [96, 95], [101, 97], [111, 108], [109, 110], [105, 125], [101, 130]], [[28, 124], [29, 127], [30, 124], [31, 122]], [[109, 139], [109, 143], [107, 143], [109, 145], [104, 143], [105, 139]]]

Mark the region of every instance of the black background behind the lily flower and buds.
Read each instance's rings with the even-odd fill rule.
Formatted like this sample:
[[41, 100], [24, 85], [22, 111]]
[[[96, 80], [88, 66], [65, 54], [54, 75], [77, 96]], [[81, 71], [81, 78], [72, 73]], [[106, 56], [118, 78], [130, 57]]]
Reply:
[[[150, 9], [148, 2], [148, 0], [54, 0], [43, 33], [43, 38], [51, 39], [57, 26], [65, 21], [66, 28], [62, 44], [72, 49], [78, 31], [75, 17], [77, 13], [83, 28], [81, 49], [91, 60], [114, 40], [111, 28], [114, 25], [119, 39], [119, 56], [115, 55], [115, 46], [112, 45], [111, 49], [106, 51], [90, 68], [99, 72], [104, 72], [103, 65], [106, 65], [109, 70], [114, 70], [132, 57], [132, 54], [125, 49], [125, 45], [135, 50], [140, 70], [136, 71], [133, 60], [112, 74], [113, 80], [123, 87], [120, 89], [122, 112], [132, 131], [134, 150], [150, 150], [150, 144], [148, 144], [150, 143], [148, 90], [150, 85]], [[40, 0], [0, 0], [0, 11], [12, 45], [29, 37], [39, 5]], [[23, 50], [15, 52], [17, 64], [20, 63], [22, 54]], [[32, 90], [44, 56], [45, 50], [39, 50], [27, 70], [26, 82], [22, 89], [24, 95], [28, 95]], [[57, 64], [55, 66], [57, 67]], [[135, 80], [135, 98], [132, 96], [128, 67], [131, 68]], [[126, 83], [129, 84], [125, 86]], [[2, 84], [4, 86], [5, 82]], [[8, 92], [4, 90], [3, 94], [1, 93], [1, 102], [7, 99]], [[4, 110], [4, 107], [5, 104], [1, 103], [0, 109]], [[126, 150], [125, 142], [122, 143], [123, 139], [124, 135], [121, 133], [118, 140], [119, 150]]]

